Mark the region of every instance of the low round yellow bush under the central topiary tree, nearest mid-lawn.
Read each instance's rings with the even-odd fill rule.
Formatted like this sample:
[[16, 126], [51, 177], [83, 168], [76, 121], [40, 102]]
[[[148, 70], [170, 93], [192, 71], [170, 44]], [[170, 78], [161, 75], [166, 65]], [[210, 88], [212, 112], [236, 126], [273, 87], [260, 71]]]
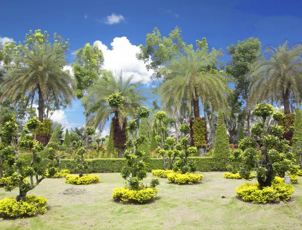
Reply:
[[113, 200], [123, 203], [145, 203], [156, 198], [158, 190], [155, 188], [144, 188], [141, 190], [130, 190], [125, 187], [113, 190]]

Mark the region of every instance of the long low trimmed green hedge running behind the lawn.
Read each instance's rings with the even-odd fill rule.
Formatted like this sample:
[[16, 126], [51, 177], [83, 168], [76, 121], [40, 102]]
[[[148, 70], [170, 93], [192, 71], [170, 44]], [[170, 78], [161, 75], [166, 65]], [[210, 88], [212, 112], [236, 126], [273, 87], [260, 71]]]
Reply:
[[[213, 157], [189, 157], [188, 161], [194, 161], [197, 171], [224, 171], [224, 168], [218, 168], [215, 158]], [[86, 173], [107, 173], [107, 172], [120, 172], [126, 163], [126, 159], [113, 158], [113, 159], [86, 159], [87, 171]], [[163, 159], [150, 158], [147, 161], [149, 171], [155, 169], [164, 169]], [[75, 163], [72, 159], [62, 159], [61, 169], [68, 169], [70, 173], [79, 173]]]

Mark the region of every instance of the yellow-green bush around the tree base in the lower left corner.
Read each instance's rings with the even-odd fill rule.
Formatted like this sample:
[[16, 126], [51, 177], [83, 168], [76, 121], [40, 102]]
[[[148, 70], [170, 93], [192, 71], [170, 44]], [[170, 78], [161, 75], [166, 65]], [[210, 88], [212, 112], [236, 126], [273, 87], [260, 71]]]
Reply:
[[26, 196], [26, 201], [15, 198], [0, 200], [0, 216], [3, 218], [24, 218], [37, 214], [45, 214], [47, 200], [42, 196]]

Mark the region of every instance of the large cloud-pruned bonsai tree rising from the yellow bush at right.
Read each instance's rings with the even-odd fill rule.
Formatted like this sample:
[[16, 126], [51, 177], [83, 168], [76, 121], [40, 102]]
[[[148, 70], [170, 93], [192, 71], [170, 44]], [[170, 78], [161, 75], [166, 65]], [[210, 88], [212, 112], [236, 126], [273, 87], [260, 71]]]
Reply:
[[[262, 189], [271, 186], [275, 176], [284, 177], [286, 172], [295, 174], [298, 166], [289, 151], [288, 141], [280, 140], [283, 135], [281, 127], [266, 127], [265, 121], [273, 114], [273, 106], [268, 103], [257, 104], [253, 114], [261, 118], [261, 122], [251, 127], [252, 138], [246, 137], [239, 142], [239, 148], [244, 151], [240, 175], [249, 179], [251, 172], [256, 170], [256, 177]], [[256, 148], [258, 137], [261, 139], [259, 150]]]

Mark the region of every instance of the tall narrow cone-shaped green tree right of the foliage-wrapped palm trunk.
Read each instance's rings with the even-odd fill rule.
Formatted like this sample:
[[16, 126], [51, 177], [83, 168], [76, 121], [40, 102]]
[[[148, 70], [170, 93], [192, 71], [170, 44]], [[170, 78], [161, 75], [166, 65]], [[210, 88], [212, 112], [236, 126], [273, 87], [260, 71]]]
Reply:
[[223, 120], [221, 110], [218, 111], [218, 122], [216, 127], [214, 157], [217, 160], [218, 169], [225, 169], [228, 157], [231, 155], [228, 134]]

